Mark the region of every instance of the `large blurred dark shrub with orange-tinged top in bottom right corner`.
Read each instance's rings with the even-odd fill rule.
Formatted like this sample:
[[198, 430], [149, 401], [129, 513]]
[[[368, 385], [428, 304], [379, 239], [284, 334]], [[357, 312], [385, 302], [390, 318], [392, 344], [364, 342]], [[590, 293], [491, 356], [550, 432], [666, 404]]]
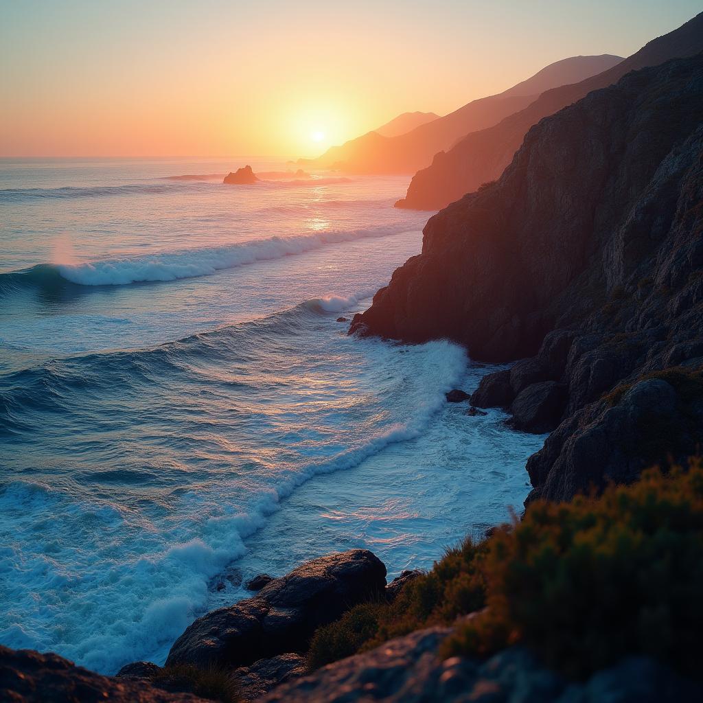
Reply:
[[649, 654], [700, 676], [703, 469], [650, 470], [600, 498], [536, 502], [498, 530], [482, 560], [484, 612], [444, 654], [485, 655], [522, 641], [581, 676]]

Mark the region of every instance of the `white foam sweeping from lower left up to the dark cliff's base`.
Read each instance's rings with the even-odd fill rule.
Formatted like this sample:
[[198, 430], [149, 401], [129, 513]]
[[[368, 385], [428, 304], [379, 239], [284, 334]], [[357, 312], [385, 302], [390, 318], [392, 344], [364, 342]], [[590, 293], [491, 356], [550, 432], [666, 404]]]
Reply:
[[162, 664], [174, 639], [206, 609], [209, 581], [245, 553], [243, 540], [283, 499], [316, 475], [356, 467], [390, 444], [418, 437], [466, 364], [463, 349], [449, 342], [406, 349], [349, 344], [365, 344], [380, 354], [380, 364], [404, 353], [412, 382], [394, 402], [406, 408], [405, 419], [352, 437], [347, 448], [340, 436], [328, 456], [314, 449], [294, 469], [273, 465], [267, 485], [243, 509], [229, 507], [241, 493], [238, 482], [200, 485], [159, 516], [77, 499], [71, 489], [49, 484], [12, 482], [1, 490], [4, 530], [24, 548], [0, 550], [7, 604], [0, 642], [58, 651], [104, 673], [134, 659]]

